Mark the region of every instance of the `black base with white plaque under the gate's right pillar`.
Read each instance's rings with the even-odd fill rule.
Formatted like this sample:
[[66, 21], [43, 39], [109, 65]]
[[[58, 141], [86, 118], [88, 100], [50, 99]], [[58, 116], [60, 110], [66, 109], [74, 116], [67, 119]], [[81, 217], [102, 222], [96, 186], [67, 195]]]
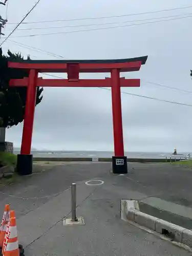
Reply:
[[112, 157], [112, 168], [114, 174], [127, 174], [126, 157]]

